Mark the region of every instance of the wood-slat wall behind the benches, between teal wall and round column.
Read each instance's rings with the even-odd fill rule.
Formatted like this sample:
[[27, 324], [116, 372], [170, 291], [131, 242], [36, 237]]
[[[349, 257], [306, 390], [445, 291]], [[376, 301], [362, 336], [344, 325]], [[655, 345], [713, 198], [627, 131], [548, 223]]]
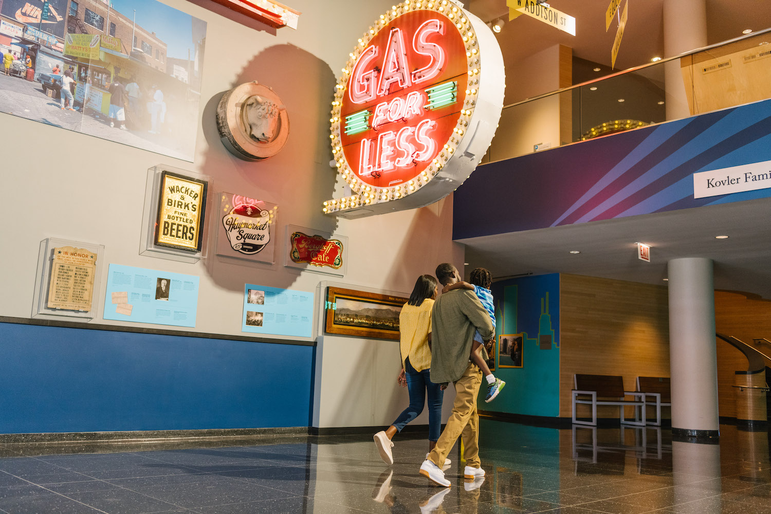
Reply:
[[[622, 375], [627, 391], [638, 375], [669, 376], [666, 286], [571, 274], [560, 281], [561, 417], [571, 416], [575, 373]], [[598, 408], [598, 416], [618, 418], [618, 407]]]

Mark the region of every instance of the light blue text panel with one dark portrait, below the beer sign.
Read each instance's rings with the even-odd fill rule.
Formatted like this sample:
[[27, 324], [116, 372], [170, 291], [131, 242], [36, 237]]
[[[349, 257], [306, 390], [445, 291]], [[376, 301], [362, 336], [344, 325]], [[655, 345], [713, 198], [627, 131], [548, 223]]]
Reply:
[[110, 264], [104, 319], [195, 327], [199, 278]]

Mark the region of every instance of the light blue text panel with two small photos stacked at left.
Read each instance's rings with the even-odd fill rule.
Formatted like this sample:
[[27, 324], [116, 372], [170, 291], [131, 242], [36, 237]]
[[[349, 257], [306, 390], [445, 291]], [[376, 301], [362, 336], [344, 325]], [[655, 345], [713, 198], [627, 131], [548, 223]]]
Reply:
[[241, 331], [310, 338], [313, 328], [313, 293], [244, 285]]

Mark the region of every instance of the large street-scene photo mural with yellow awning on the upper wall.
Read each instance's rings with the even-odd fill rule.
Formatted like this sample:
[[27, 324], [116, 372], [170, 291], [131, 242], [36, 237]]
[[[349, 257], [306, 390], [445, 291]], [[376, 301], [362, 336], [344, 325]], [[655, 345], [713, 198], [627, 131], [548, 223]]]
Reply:
[[192, 162], [206, 22], [154, 0], [43, 3], [2, 2], [32, 71], [0, 76], [0, 111]]

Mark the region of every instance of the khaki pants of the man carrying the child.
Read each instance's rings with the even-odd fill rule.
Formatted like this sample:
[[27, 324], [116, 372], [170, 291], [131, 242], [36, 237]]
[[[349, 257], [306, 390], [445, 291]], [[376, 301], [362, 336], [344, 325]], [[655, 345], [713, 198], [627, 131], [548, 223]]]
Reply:
[[[466, 465], [480, 467], [479, 428], [480, 417], [476, 412], [476, 396], [482, 385], [482, 371], [473, 362], [463, 371], [463, 376], [455, 382], [455, 403], [447, 425], [439, 441], [429, 454], [429, 461], [441, 469], [447, 454], [455, 445], [458, 437], [463, 437], [463, 458]], [[441, 462], [442, 464], [439, 464]]]

